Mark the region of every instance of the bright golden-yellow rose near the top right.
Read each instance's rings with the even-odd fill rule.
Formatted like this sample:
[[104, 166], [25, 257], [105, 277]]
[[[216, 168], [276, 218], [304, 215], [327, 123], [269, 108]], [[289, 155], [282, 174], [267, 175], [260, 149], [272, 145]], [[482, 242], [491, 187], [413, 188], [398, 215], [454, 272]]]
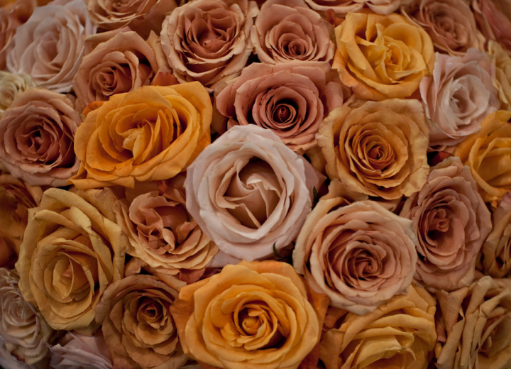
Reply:
[[[404, 16], [348, 13], [336, 27], [333, 68], [356, 97], [410, 97], [434, 66], [429, 35]], [[373, 53], [371, 50], [378, 50]]]

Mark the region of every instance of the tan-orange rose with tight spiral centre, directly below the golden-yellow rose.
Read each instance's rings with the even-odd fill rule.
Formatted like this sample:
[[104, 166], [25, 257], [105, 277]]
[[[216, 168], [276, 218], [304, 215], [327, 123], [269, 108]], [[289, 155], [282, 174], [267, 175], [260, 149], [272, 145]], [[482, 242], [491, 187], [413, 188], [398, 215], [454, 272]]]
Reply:
[[428, 136], [419, 101], [388, 99], [335, 109], [316, 138], [331, 179], [351, 191], [399, 199], [426, 182]]

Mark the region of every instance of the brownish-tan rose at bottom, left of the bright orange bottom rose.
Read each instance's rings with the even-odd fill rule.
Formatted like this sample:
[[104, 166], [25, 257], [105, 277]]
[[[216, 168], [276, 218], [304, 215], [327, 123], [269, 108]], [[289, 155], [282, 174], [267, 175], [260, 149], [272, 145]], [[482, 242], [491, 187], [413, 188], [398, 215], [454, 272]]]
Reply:
[[133, 274], [128, 265], [126, 277], [109, 285], [96, 305], [114, 368], [181, 368], [188, 358], [170, 309], [185, 282]]

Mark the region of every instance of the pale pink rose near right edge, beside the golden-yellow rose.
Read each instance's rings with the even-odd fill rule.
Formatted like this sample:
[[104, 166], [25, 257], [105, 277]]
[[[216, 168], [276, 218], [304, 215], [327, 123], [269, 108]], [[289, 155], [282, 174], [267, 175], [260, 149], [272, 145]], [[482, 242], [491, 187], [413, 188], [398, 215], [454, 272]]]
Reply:
[[500, 107], [493, 87], [495, 67], [488, 54], [468, 49], [463, 57], [436, 53], [432, 77], [420, 82], [424, 111], [429, 119], [429, 146], [452, 146], [471, 133]]

